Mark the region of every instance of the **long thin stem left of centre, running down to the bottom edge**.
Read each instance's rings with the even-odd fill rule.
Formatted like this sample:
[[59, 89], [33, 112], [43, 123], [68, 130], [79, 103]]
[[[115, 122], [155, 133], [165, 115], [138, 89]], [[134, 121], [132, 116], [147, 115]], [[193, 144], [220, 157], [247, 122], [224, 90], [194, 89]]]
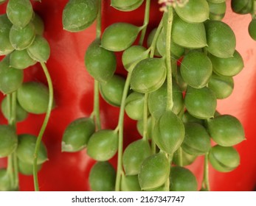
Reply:
[[125, 80], [125, 87], [122, 93], [122, 102], [120, 106], [120, 113], [118, 119], [118, 154], [117, 154], [117, 177], [116, 177], [116, 185], [115, 191], [120, 191], [120, 181], [121, 181], [121, 174], [122, 174], [122, 144], [123, 144], [123, 122], [125, 116], [125, 99], [128, 95], [128, 90], [130, 88], [131, 82], [131, 72], [128, 72], [127, 78]]

